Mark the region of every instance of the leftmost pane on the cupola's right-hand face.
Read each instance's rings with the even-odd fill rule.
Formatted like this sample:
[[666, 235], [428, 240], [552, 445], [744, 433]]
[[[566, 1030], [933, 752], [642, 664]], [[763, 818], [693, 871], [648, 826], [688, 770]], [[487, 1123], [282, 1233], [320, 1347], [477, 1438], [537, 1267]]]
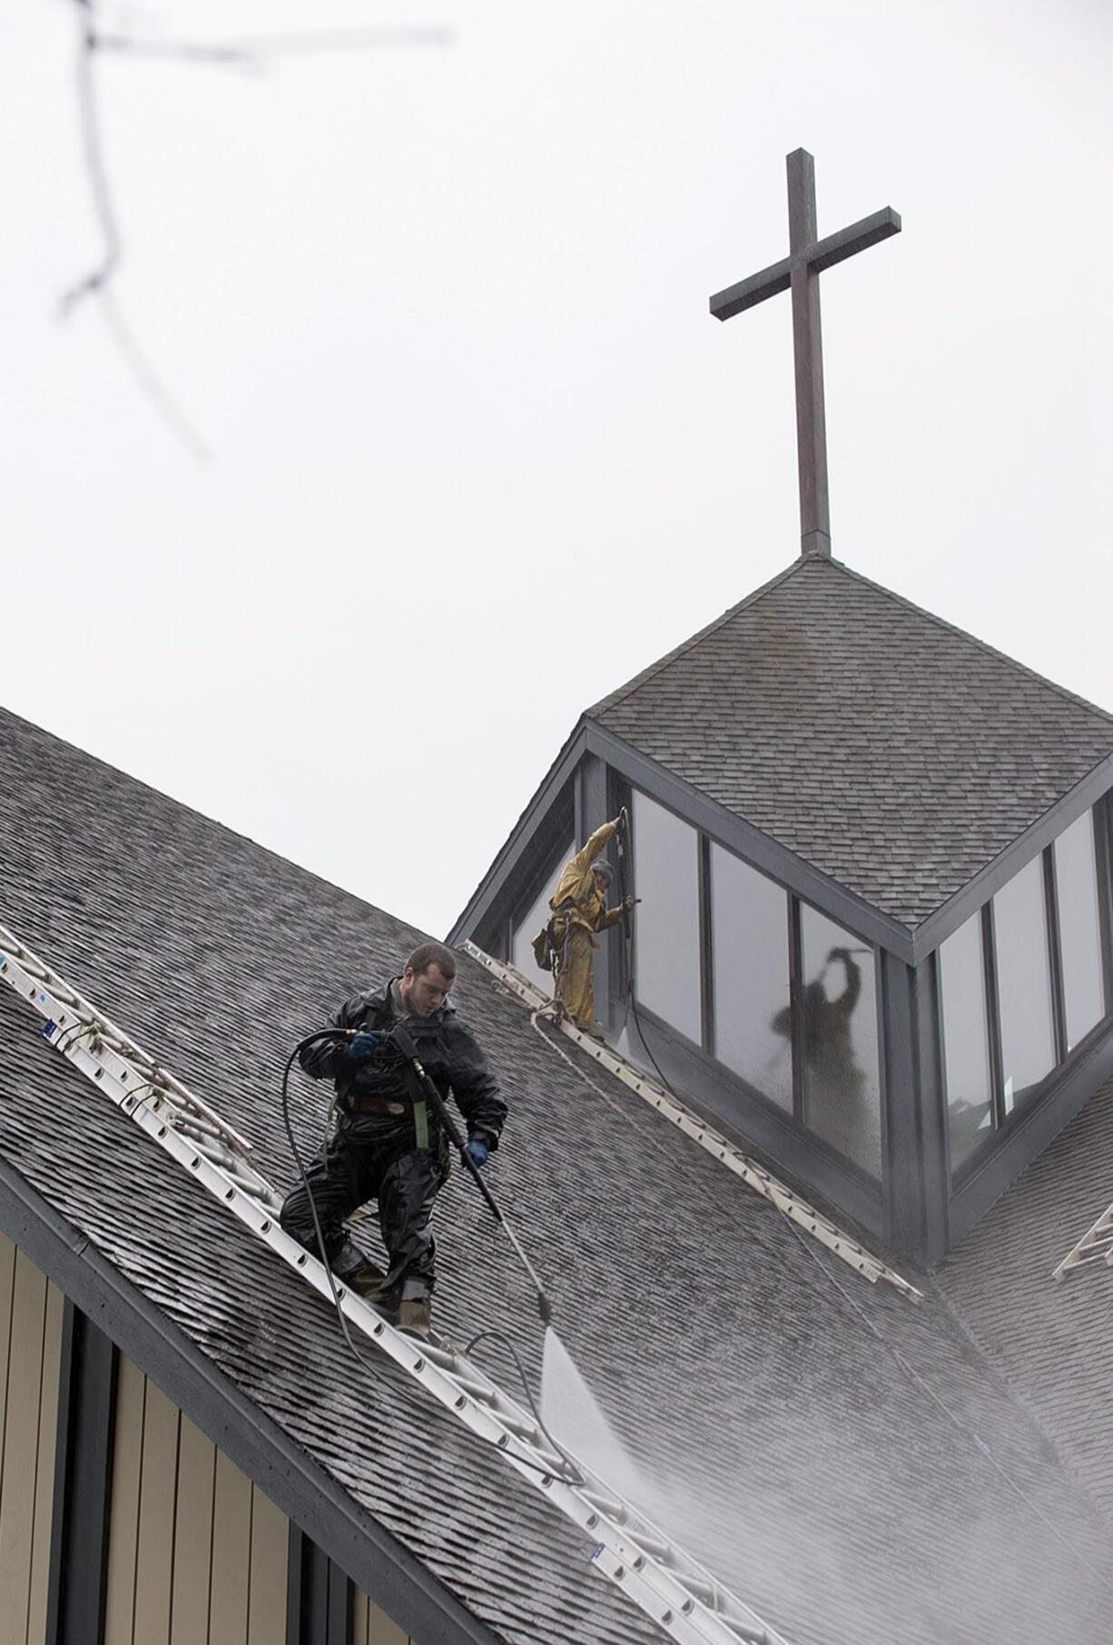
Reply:
[[939, 1008], [944, 1018], [950, 1163], [957, 1166], [990, 1135], [993, 1125], [981, 913], [972, 915], [939, 949]]

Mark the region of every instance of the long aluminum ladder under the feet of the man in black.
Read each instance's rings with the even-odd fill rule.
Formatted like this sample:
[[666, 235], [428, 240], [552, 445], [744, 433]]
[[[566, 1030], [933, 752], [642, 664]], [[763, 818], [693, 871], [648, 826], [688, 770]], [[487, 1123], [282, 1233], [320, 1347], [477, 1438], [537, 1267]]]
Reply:
[[[252, 1165], [252, 1147], [155, 1058], [0, 926], [0, 980], [44, 1018], [43, 1036], [97, 1084], [164, 1153], [309, 1285], [332, 1301], [322, 1263], [278, 1226], [281, 1196]], [[390, 1326], [337, 1283], [350, 1326], [370, 1337], [590, 1540], [590, 1561], [681, 1645], [787, 1645], [579, 1457], [579, 1484], [534, 1416], [462, 1354]]]

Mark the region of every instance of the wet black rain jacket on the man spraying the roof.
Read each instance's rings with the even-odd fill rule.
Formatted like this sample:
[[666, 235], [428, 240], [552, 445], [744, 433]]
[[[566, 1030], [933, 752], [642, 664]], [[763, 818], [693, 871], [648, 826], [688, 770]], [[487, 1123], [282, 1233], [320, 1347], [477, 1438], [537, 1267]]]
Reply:
[[[362, 1028], [385, 1035], [395, 1022], [390, 984], [370, 994], [357, 994], [329, 1020], [330, 1028]], [[498, 1094], [498, 1082], [487, 1066], [487, 1058], [477, 1040], [455, 1015], [452, 1000], [446, 1000], [429, 1017], [406, 1017], [406, 1030], [418, 1046], [418, 1059], [447, 1102], [449, 1092], [467, 1122], [469, 1140], [480, 1137], [488, 1148], [498, 1147], [506, 1104]], [[352, 1063], [344, 1041], [319, 1040], [306, 1046], [299, 1063], [312, 1079], [332, 1079], [337, 1089], [340, 1112], [349, 1094], [380, 1097], [385, 1102], [411, 1104], [411, 1087], [406, 1082], [406, 1058], [388, 1040], [380, 1041], [372, 1058]], [[368, 1124], [370, 1122], [370, 1124]], [[378, 1132], [396, 1128], [398, 1120], [383, 1125], [373, 1115], [352, 1114], [353, 1132]], [[408, 1119], [413, 1125], [413, 1119]], [[429, 1112], [429, 1125], [436, 1130], [436, 1114]]]

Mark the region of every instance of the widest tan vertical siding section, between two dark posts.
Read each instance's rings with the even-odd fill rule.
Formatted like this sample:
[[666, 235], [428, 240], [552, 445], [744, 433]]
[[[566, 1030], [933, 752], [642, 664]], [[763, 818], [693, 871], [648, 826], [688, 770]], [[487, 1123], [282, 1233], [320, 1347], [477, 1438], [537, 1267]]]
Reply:
[[286, 1517], [120, 1359], [105, 1645], [286, 1645]]

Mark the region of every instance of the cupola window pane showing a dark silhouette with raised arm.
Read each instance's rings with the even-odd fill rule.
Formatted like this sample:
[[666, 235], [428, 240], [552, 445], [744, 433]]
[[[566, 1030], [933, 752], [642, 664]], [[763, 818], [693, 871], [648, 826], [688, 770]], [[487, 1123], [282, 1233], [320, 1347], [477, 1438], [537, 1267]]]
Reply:
[[804, 1124], [881, 1175], [881, 1087], [873, 951], [801, 903]]

